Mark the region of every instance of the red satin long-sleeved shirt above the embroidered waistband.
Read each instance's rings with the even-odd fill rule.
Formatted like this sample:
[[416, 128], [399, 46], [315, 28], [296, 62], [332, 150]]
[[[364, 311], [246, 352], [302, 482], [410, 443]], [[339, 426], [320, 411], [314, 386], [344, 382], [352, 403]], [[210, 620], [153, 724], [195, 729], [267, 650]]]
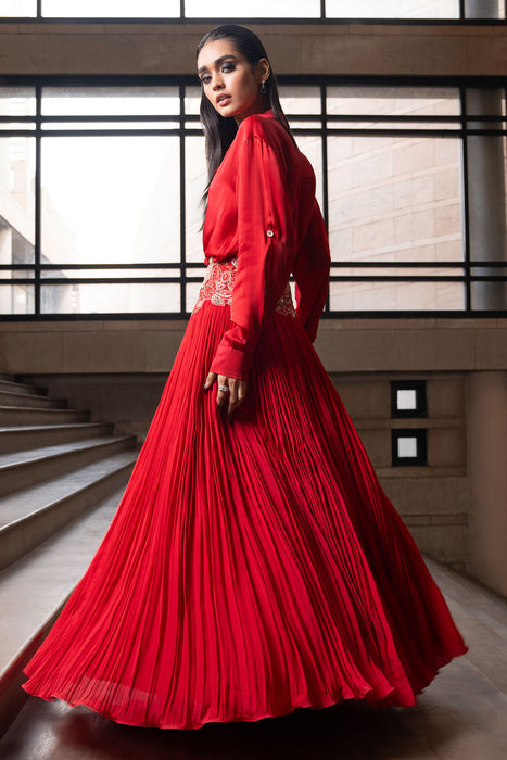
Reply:
[[230, 316], [235, 327], [211, 370], [246, 380], [264, 321], [289, 276], [312, 341], [328, 292], [330, 253], [315, 198], [315, 174], [271, 110], [248, 116], [210, 186], [205, 264], [238, 258]]

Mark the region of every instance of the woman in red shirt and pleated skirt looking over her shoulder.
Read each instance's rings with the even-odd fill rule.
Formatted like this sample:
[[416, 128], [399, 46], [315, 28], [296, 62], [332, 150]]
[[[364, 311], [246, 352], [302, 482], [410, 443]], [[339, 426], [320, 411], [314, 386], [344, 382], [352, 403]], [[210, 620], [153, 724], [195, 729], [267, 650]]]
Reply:
[[24, 688], [179, 729], [411, 706], [467, 647], [312, 345], [330, 265], [314, 173], [253, 33], [212, 30], [198, 68], [207, 274], [117, 512]]

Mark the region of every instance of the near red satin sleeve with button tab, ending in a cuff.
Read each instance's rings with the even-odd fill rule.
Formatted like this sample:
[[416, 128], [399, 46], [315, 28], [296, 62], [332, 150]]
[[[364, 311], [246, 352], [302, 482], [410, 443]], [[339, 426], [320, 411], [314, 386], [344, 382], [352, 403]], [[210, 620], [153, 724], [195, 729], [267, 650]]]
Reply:
[[224, 334], [211, 369], [246, 380], [263, 324], [276, 307], [295, 255], [293, 202], [278, 147], [257, 134], [244, 136], [236, 187], [238, 268], [230, 312], [235, 326]]

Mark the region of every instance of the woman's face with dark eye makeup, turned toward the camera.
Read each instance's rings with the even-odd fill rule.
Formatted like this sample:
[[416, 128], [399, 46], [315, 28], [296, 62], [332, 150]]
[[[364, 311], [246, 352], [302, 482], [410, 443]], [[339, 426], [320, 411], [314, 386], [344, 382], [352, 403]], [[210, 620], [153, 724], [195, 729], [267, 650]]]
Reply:
[[261, 83], [269, 75], [266, 59], [252, 67], [227, 39], [206, 42], [198, 56], [203, 92], [220, 116], [233, 116], [238, 124], [266, 110]]

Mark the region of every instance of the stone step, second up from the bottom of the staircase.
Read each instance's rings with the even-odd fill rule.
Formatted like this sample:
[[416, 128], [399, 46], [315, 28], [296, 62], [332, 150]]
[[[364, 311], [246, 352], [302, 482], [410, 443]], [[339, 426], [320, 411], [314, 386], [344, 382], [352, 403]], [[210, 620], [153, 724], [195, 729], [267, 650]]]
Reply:
[[3, 498], [0, 570], [17, 561], [115, 490], [131, 471], [136, 456], [136, 452], [114, 454]]

